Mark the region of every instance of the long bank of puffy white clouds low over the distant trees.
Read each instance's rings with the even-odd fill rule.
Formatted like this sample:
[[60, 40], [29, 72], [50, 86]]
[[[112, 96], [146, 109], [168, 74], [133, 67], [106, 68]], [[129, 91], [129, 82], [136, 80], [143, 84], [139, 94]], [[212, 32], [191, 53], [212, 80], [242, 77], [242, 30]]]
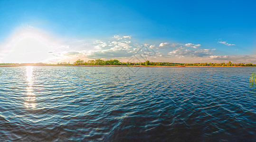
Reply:
[[[114, 35], [109, 41], [95, 40], [92, 50], [69, 50], [62, 52], [61, 58], [74, 59], [127, 59], [134, 55], [146, 56], [150, 60], [152, 58], [168, 58], [174, 57], [205, 57], [211, 55], [215, 49], [190, 50], [189, 47], [198, 48], [200, 44], [170, 44], [168, 42], [156, 44], [138, 44], [133, 43], [131, 36]], [[171, 48], [170, 48], [171, 47]], [[170, 52], [171, 49], [176, 48]], [[154, 49], [165, 49], [167, 51], [155, 52]], [[169, 50], [169, 51], [168, 51]], [[168, 53], [169, 52], [169, 53]], [[57, 57], [56, 57], [57, 58]]]

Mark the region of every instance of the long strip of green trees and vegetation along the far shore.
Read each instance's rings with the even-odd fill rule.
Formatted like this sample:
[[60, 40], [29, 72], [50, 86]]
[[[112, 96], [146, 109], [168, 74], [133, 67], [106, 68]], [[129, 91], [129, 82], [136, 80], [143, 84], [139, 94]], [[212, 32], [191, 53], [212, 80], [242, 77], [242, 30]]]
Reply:
[[252, 63], [174, 63], [174, 62], [120, 62], [118, 60], [89, 60], [84, 62], [78, 59], [74, 63], [69, 62], [58, 62], [57, 64], [48, 63], [0, 63], [0, 67], [14, 67], [14, 66], [129, 66], [129, 67], [252, 67], [256, 64]]

